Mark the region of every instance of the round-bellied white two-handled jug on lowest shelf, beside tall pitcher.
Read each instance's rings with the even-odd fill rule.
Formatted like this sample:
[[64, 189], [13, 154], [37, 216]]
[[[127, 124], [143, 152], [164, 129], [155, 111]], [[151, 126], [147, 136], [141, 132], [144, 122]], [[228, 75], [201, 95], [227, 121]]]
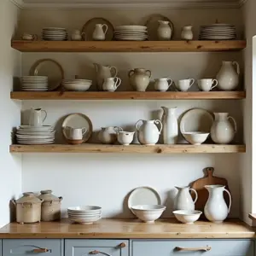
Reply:
[[[139, 123], [143, 123], [138, 126]], [[160, 125], [160, 130], [156, 125]], [[144, 145], [154, 145], [159, 141], [163, 125], [160, 120], [138, 120], [135, 125], [138, 133], [138, 140]]]

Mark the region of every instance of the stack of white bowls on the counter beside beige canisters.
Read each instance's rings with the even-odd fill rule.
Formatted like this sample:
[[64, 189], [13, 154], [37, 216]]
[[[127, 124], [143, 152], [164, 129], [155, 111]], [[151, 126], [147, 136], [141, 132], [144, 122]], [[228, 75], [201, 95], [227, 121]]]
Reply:
[[73, 222], [93, 224], [102, 218], [102, 207], [69, 207], [67, 215]]

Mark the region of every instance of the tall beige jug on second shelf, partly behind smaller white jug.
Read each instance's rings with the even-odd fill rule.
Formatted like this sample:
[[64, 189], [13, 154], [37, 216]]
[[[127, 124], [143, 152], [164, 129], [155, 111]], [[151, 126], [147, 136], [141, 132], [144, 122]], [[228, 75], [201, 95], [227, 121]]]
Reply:
[[111, 66], [102, 66], [101, 64], [94, 63], [96, 68], [96, 82], [98, 90], [102, 90], [104, 79], [115, 78], [117, 76], [117, 68]]

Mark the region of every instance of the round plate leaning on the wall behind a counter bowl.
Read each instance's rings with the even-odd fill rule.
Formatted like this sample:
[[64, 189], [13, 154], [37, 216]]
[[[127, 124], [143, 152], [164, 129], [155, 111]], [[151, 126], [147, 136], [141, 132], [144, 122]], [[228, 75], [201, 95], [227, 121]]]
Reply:
[[[161, 205], [160, 195], [152, 188], [139, 187], [131, 192], [128, 198], [128, 207], [137, 205]], [[134, 214], [134, 212], [131, 210]]]

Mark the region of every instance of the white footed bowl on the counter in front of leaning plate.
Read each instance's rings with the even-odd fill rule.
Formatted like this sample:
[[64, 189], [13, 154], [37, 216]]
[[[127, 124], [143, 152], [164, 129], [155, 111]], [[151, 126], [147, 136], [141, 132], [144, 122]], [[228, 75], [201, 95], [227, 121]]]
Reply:
[[160, 218], [166, 207], [161, 205], [137, 205], [131, 207], [137, 218], [146, 223], [154, 223], [154, 220]]

